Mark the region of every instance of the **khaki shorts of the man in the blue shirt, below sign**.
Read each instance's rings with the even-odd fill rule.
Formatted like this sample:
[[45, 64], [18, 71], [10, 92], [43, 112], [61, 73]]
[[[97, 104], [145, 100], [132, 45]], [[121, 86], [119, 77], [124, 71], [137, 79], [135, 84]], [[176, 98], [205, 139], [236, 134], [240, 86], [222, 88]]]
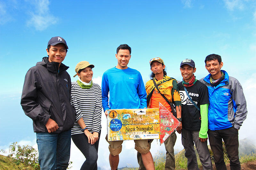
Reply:
[[[119, 141], [108, 141], [108, 135], [106, 136], [106, 140], [109, 143], [108, 149], [111, 155], [116, 156], [119, 155], [122, 151], [122, 144], [123, 140]], [[146, 154], [149, 152], [149, 144], [148, 144], [148, 139], [140, 139], [140, 140], [134, 140], [135, 142], [135, 147], [138, 152], [142, 154]]]

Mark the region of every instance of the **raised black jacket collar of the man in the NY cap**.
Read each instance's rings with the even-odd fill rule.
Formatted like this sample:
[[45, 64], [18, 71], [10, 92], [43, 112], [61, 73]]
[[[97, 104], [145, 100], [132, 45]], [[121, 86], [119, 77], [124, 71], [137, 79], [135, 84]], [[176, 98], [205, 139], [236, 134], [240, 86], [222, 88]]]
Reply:
[[36, 65], [43, 65], [44, 67], [47, 68], [48, 71], [52, 72], [52, 73], [62, 73], [66, 70], [68, 70], [68, 66], [64, 65], [64, 64], [60, 64], [60, 68], [59, 68], [59, 63], [57, 62], [49, 62], [48, 57], [43, 57], [41, 62], [36, 63]]

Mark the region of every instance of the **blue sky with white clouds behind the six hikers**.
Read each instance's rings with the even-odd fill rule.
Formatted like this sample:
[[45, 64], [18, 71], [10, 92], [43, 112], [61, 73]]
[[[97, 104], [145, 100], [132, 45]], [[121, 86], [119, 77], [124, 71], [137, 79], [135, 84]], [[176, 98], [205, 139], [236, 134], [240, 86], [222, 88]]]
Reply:
[[[219, 54], [223, 70], [240, 81], [247, 100], [248, 117], [239, 138], [250, 137], [248, 129], [256, 128], [255, 1], [0, 0], [0, 149], [16, 141], [35, 144], [32, 121], [21, 109], [20, 96], [27, 70], [47, 55], [47, 42], [53, 36], [67, 41], [69, 49], [63, 63], [70, 67], [71, 80], [76, 81], [72, 77], [76, 64], [86, 60], [95, 65], [93, 80], [99, 84], [103, 72], [116, 66], [116, 48], [120, 44], [132, 48], [128, 66], [141, 72], [144, 83], [149, 80], [149, 60], [153, 57], [161, 57], [167, 75], [180, 80], [183, 59], [195, 61], [199, 79], [208, 74], [205, 57]], [[102, 117], [103, 129], [104, 124]], [[105, 134], [102, 132], [100, 141], [104, 158], [99, 160], [105, 161], [100, 166], [108, 167]], [[181, 145], [179, 137], [177, 149]], [[132, 147], [132, 141], [125, 141], [131, 162], [120, 155], [120, 166], [137, 166]], [[157, 149], [163, 151], [164, 147], [156, 147], [154, 152]], [[71, 155], [78, 152], [71, 150]], [[79, 167], [73, 162], [74, 167]]]

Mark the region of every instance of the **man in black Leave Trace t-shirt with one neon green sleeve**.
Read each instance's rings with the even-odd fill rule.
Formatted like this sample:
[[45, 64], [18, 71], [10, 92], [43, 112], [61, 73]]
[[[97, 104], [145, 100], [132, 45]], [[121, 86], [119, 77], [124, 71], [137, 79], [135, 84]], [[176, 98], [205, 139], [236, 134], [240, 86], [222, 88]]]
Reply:
[[207, 146], [208, 130], [208, 89], [196, 80], [195, 62], [185, 59], [180, 64], [183, 81], [178, 84], [182, 104], [181, 141], [188, 159], [188, 170], [199, 170], [194, 143], [203, 169], [212, 170], [212, 162]]

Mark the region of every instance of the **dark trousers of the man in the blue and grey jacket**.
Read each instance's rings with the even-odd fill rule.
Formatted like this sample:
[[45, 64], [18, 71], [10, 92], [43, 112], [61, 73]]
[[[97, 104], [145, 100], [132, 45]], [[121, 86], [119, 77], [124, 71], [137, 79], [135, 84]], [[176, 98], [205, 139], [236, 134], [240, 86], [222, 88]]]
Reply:
[[221, 130], [208, 130], [210, 146], [214, 156], [214, 163], [217, 170], [226, 170], [227, 167], [223, 158], [222, 139], [230, 160], [230, 170], [241, 170], [238, 156], [238, 130], [234, 127]]

